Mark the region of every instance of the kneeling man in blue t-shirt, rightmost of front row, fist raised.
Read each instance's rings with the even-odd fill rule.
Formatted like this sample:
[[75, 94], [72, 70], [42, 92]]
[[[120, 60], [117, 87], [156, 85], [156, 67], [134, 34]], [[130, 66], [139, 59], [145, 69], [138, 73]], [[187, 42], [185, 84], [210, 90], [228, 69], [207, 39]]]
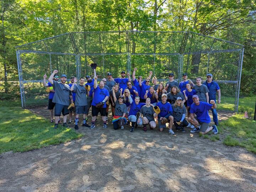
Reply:
[[[193, 95], [193, 104], [190, 107], [190, 117], [188, 122], [195, 126], [190, 132], [200, 132], [201, 134], [207, 134], [212, 131], [214, 134], [218, 133], [216, 125], [210, 125], [210, 116], [208, 111], [212, 108], [216, 109], [217, 105], [214, 100], [210, 100], [210, 103], [199, 101], [198, 95]], [[195, 114], [197, 117], [195, 117]]]

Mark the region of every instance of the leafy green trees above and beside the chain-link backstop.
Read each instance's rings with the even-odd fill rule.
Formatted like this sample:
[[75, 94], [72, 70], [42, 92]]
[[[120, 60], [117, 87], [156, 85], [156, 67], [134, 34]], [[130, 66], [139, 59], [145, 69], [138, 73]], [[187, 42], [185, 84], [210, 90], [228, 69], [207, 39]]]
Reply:
[[66, 32], [122, 30], [187, 30], [245, 45], [241, 96], [256, 94], [255, 1], [1, 0], [0, 6], [1, 98], [19, 94], [12, 85], [15, 46]]

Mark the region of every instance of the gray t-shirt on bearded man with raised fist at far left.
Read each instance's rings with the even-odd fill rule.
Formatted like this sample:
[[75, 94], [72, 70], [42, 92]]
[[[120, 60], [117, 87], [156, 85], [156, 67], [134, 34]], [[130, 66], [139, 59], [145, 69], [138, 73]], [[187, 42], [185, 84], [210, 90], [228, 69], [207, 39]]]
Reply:
[[53, 80], [53, 89], [55, 90], [53, 96], [53, 103], [59, 103], [61, 105], [69, 105], [69, 95], [72, 95], [68, 84], [62, 84]]

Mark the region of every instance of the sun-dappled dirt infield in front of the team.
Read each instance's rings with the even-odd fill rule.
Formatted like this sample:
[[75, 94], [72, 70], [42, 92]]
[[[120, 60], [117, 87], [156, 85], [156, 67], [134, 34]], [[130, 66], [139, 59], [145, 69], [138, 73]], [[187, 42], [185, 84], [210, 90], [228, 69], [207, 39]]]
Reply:
[[0, 191], [256, 191], [256, 155], [244, 148], [190, 129], [173, 136], [96, 125], [80, 127], [79, 140], [2, 154]]

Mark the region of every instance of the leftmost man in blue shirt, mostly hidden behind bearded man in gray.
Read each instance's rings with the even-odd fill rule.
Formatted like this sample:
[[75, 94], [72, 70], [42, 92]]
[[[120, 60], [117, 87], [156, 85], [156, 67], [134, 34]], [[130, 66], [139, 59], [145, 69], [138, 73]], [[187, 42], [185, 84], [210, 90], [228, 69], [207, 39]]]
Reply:
[[[54, 96], [55, 91], [53, 89], [53, 85], [50, 82], [46, 83], [46, 78], [47, 78], [47, 76], [46, 76], [46, 74], [44, 74], [44, 76], [43, 76], [43, 86], [51, 87], [50, 92], [49, 92], [49, 98], [48, 98], [48, 109], [49, 109], [49, 112], [50, 112], [50, 119], [51, 119], [50, 122], [53, 123], [53, 108], [55, 106], [55, 103], [53, 103], [52, 100], [53, 100], [53, 96]], [[59, 80], [58, 74], [55, 74], [53, 79], [55, 81], [58, 81]], [[59, 123], [61, 123], [60, 120], [59, 120]]]

